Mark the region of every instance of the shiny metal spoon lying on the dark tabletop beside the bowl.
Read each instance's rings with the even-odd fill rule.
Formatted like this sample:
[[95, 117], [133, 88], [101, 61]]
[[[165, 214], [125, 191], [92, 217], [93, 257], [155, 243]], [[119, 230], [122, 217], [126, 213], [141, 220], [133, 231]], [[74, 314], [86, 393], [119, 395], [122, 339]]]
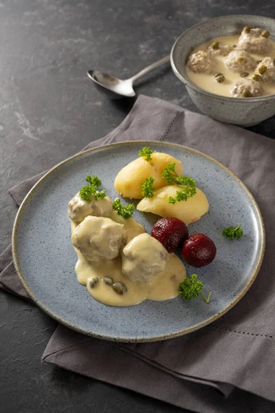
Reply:
[[168, 56], [163, 57], [159, 61], [152, 63], [145, 69], [141, 70], [137, 74], [134, 74], [129, 79], [125, 79], [124, 81], [111, 76], [111, 74], [98, 72], [96, 70], [89, 70], [87, 75], [89, 78], [96, 83], [99, 87], [100, 92], [104, 92], [109, 96], [109, 98], [119, 99], [122, 97], [130, 98], [135, 96], [135, 91], [133, 90], [133, 83], [137, 81], [137, 79], [141, 78], [148, 72], [157, 69], [157, 67], [164, 65], [164, 63], [168, 63], [170, 61], [170, 54]]

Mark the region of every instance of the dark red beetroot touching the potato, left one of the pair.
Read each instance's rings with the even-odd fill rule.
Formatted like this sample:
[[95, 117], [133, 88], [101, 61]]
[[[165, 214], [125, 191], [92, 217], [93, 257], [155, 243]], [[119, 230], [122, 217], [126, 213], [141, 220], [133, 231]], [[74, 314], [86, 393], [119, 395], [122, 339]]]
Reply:
[[161, 218], [153, 226], [152, 237], [162, 243], [168, 253], [173, 253], [177, 247], [188, 238], [188, 228], [177, 218]]

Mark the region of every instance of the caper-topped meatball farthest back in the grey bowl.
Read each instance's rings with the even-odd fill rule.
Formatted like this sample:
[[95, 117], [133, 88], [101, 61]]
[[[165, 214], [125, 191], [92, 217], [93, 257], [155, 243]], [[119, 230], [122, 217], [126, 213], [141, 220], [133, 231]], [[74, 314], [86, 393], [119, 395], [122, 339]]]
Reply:
[[270, 52], [272, 45], [267, 30], [250, 29], [246, 26], [239, 37], [238, 47], [249, 53], [267, 54]]

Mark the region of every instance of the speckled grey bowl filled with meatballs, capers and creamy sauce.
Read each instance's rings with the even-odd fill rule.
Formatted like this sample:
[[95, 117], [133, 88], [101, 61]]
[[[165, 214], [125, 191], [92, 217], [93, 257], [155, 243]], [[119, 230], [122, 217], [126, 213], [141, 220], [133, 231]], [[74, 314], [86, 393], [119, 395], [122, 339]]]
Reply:
[[211, 118], [250, 127], [275, 114], [275, 20], [234, 15], [203, 21], [173, 45], [171, 65]]

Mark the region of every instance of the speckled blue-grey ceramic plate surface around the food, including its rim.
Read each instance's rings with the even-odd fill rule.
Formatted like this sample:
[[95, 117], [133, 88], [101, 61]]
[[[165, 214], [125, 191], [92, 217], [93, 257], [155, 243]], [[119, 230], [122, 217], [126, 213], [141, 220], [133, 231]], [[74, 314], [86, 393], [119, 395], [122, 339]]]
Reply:
[[[170, 153], [181, 160], [184, 173], [197, 181], [209, 200], [209, 213], [190, 233], [206, 233], [217, 246], [217, 257], [197, 273], [210, 303], [202, 297], [184, 301], [149, 301], [132, 307], [100, 304], [78, 284], [71, 243], [68, 201], [85, 184], [87, 174], [99, 176], [111, 198], [113, 180], [139, 149]], [[135, 211], [134, 218], [151, 232], [156, 215]], [[222, 229], [241, 223], [241, 240], [230, 241]], [[80, 153], [46, 173], [25, 198], [14, 223], [14, 264], [25, 290], [45, 313], [85, 335], [114, 341], [157, 341], [197, 330], [226, 313], [252, 285], [265, 248], [263, 220], [248, 189], [227, 168], [203, 153], [159, 142], [125, 142]]]

